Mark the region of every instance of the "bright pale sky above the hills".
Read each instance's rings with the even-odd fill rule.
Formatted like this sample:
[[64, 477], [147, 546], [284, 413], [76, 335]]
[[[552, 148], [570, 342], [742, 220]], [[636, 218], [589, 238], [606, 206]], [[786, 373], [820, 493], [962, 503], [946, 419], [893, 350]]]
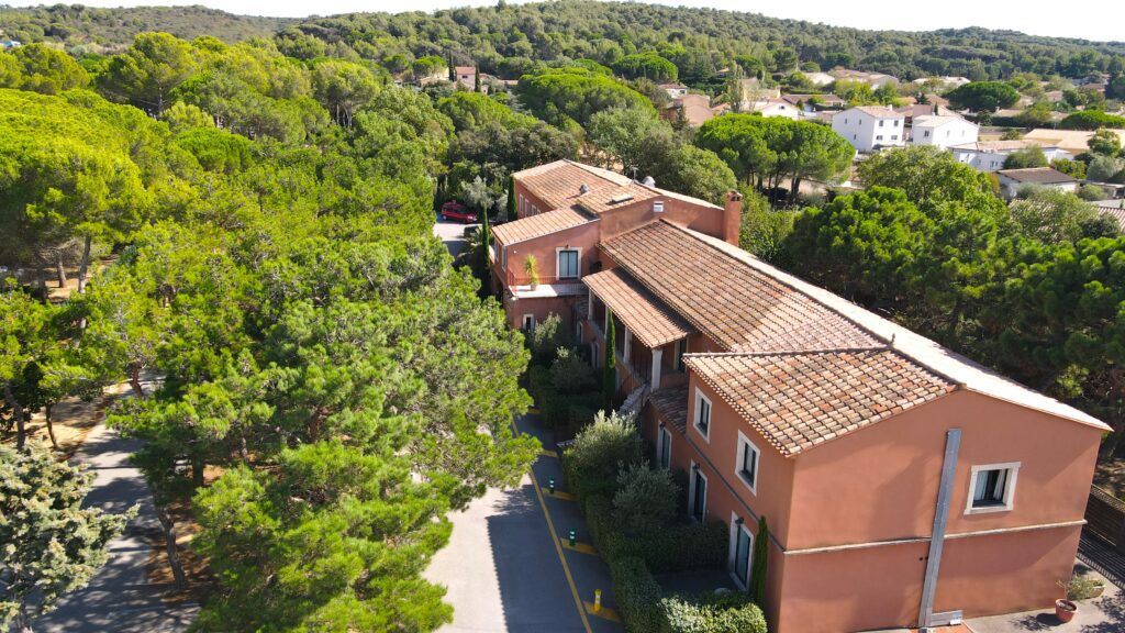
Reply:
[[[68, 3], [71, 3], [70, 0]], [[1087, 0], [1076, 6], [1045, 0], [937, 0], [932, 2], [888, 2], [874, 0], [655, 0], [662, 5], [714, 7], [760, 12], [778, 18], [802, 19], [838, 26], [872, 29], [934, 30], [937, 28], [983, 26], [1022, 30], [1033, 35], [1081, 37], [1099, 41], [1125, 41], [1125, 1]], [[28, 6], [42, 2], [0, 0], [0, 3]], [[467, 5], [494, 5], [479, 0], [87, 0], [93, 7], [135, 7], [138, 5], [206, 5], [233, 14], [305, 17], [353, 11], [433, 10]]]

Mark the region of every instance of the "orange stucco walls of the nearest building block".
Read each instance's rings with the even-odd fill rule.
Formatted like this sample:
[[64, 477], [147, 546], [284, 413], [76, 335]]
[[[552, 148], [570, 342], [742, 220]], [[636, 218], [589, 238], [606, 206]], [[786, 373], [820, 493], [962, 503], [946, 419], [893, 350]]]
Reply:
[[[712, 402], [709, 442], [692, 424], [696, 387]], [[687, 398], [686, 437], [672, 434], [674, 467], [700, 464], [709, 518], [764, 514], [788, 552], [771, 547], [763, 605], [777, 633], [917, 623], [948, 428], [962, 430], [962, 444], [935, 610], [1012, 613], [1060, 596], [1055, 582], [1069, 577], [1080, 527], [1050, 526], [1082, 519], [1099, 429], [957, 391], [785, 458], [694, 375]], [[657, 420], [646, 422], [655, 440]], [[735, 474], [738, 430], [762, 451], [757, 493]], [[971, 467], [1008, 462], [1020, 463], [1012, 509], [966, 515]], [[1048, 527], [1025, 529], [1036, 526]], [[854, 545], [865, 546], [801, 552]]]

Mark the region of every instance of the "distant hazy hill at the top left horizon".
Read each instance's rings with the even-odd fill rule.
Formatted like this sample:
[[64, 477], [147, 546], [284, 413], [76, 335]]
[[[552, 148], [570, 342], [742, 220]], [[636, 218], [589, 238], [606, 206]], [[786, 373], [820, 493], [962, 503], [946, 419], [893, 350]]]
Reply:
[[272, 37], [295, 20], [235, 16], [206, 7], [98, 9], [81, 5], [14, 8], [0, 6], [3, 37], [20, 42], [61, 42], [90, 52], [114, 51], [145, 30], [163, 30], [184, 39], [213, 35], [224, 42]]

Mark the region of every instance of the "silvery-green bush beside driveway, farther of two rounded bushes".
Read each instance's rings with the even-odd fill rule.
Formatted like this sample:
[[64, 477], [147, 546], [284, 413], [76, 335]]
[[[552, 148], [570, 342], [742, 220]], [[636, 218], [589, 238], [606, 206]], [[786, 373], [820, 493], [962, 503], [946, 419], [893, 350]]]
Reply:
[[598, 411], [565, 453], [562, 467], [570, 490], [579, 497], [612, 494], [618, 471], [639, 461], [641, 443], [636, 418]]

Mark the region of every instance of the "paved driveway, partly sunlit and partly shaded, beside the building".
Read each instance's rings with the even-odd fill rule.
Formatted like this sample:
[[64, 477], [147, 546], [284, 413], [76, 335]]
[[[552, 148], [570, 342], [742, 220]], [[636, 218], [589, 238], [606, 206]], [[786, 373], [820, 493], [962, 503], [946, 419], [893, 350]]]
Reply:
[[[549, 431], [538, 416], [516, 420], [518, 428], [547, 439]], [[452, 515], [453, 535], [439, 552], [425, 577], [448, 588], [453, 623], [444, 633], [618, 633], [612, 615], [613, 592], [609, 570], [588, 543], [585, 521], [566, 494], [537, 490], [555, 478], [565, 493], [558, 458], [540, 456], [512, 490], [489, 490], [464, 512]], [[567, 546], [574, 528], [578, 550]], [[594, 590], [603, 591], [602, 615], [588, 613]]]

